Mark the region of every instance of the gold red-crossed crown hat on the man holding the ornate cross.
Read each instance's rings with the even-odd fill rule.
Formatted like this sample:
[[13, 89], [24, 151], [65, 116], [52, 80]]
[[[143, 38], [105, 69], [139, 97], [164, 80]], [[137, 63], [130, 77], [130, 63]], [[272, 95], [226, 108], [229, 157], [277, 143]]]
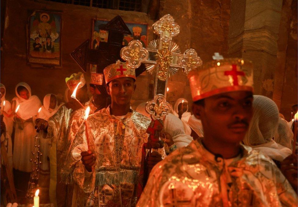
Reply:
[[104, 79], [106, 84], [116, 78], [129, 77], [136, 80], [136, 71], [134, 68], [130, 68], [125, 62], [119, 60], [104, 68]]

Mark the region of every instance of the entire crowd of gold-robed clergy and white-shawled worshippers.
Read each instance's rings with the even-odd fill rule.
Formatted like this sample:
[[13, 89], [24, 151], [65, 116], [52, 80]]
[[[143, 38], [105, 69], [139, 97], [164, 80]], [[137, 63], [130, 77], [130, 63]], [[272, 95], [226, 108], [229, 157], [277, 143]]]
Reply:
[[[241, 75], [227, 76], [235, 62]], [[104, 69], [110, 103], [100, 96], [99, 76], [91, 75], [91, 98], [79, 72], [66, 78], [64, 103], [47, 94], [43, 105], [25, 82], [11, 102], [1, 84], [9, 166], [31, 172], [38, 131], [40, 171], [50, 174], [54, 206], [297, 205], [297, 104], [287, 122], [273, 100], [253, 95], [251, 64], [226, 59], [194, 68], [188, 75], [193, 104], [176, 100], [162, 127], [145, 102], [130, 105], [138, 90], [134, 69], [122, 62]]]

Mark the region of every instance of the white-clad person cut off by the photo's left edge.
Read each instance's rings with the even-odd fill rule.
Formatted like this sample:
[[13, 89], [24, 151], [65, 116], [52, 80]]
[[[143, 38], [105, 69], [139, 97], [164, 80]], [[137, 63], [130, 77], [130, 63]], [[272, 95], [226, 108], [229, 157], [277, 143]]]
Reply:
[[[7, 158], [9, 162], [9, 168], [11, 169], [11, 172], [13, 170], [13, 145], [11, 141], [11, 135], [13, 133], [13, 120], [11, 118], [12, 110], [11, 110], [11, 104], [8, 100], [5, 99], [6, 94], [6, 88], [5, 86], [0, 83], [0, 90], [1, 90], [1, 116], [3, 115], [3, 122], [5, 123], [5, 135], [4, 133], [1, 135], [1, 141], [2, 138], [5, 139], [5, 147], [7, 152]], [[4, 105], [5, 101], [5, 105]], [[3, 160], [2, 160], [3, 164]]]

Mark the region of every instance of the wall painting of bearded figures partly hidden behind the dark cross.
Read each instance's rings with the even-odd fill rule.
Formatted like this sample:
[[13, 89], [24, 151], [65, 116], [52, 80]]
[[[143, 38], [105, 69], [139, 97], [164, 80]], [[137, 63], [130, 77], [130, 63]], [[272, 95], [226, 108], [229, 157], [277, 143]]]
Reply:
[[[91, 49], [97, 49], [100, 42], [107, 42], [109, 32], [100, 30], [100, 28], [106, 23], [108, 23], [107, 19], [93, 19]], [[122, 44], [126, 46], [131, 40], [140, 40], [143, 44], [143, 47], [147, 47], [148, 23], [125, 22], [125, 24], [129, 28], [132, 35], [124, 35]]]

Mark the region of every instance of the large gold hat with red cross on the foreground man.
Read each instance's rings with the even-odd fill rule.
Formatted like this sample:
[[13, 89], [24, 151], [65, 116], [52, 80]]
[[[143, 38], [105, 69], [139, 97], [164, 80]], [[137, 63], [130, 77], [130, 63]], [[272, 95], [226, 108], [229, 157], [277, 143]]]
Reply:
[[193, 101], [231, 91], [253, 92], [251, 61], [228, 58], [194, 68], [188, 74]]

